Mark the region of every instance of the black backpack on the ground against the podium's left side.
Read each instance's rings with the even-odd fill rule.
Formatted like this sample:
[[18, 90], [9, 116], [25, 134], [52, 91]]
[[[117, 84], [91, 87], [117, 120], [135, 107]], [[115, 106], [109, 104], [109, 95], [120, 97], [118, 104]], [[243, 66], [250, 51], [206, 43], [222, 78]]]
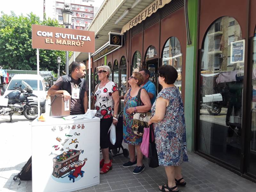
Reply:
[[22, 167], [19, 174], [13, 177], [13, 180], [32, 180], [32, 156], [28, 159], [28, 162]]

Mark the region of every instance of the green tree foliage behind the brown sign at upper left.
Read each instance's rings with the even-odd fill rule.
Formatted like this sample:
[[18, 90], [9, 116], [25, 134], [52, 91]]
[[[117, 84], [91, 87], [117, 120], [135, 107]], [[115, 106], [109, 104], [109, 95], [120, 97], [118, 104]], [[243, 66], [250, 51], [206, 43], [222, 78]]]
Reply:
[[[62, 27], [50, 18], [41, 21], [32, 12], [27, 16], [3, 14], [0, 17], [0, 67], [16, 70], [36, 70], [36, 49], [32, 48], [32, 24]], [[61, 57], [60, 72], [65, 69], [65, 51], [39, 50], [40, 70], [58, 73], [57, 57]]]

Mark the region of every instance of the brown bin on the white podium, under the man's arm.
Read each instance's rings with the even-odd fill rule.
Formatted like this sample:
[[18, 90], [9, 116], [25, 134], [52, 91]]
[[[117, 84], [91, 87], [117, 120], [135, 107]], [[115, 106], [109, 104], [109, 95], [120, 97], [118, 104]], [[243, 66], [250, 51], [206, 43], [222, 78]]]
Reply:
[[70, 115], [70, 101], [69, 98], [69, 106], [68, 110], [65, 110], [65, 103], [64, 103], [64, 95], [50, 95], [51, 97], [51, 109], [52, 113], [50, 116], [53, 117], [61, 117], [61, 116], [69, 116]]

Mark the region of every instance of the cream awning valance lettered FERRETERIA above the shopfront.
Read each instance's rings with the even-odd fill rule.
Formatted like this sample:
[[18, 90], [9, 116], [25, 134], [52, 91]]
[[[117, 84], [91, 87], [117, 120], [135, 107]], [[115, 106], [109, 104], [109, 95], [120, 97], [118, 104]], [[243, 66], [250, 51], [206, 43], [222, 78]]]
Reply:
[[155, 13], [158, 9], [164, 7], [165, 4], [170, 3], [172, 0], [155, 0], [153, 3], [147, 6], [143, 11], [141, 11], [136, 17], [130, 20], [122, 28], [121, 34], [124, 34], [125, 31], [128, 31], [130, 28], [141, 23], [147, 17]]

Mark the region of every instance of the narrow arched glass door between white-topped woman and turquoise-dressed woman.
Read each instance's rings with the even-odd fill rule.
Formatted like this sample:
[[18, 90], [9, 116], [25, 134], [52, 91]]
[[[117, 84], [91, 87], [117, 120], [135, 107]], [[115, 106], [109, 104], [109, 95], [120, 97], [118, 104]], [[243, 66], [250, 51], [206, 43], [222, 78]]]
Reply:
[[[126, 84], [127, 84], [127, 66], [126, 59], [124, 56], [121, 57], [120, 68], [119, 68], [119, 95], [124, 96], [126, 93]], [[119, 111], [124, 110], [124, 100], [120, 100]]]

